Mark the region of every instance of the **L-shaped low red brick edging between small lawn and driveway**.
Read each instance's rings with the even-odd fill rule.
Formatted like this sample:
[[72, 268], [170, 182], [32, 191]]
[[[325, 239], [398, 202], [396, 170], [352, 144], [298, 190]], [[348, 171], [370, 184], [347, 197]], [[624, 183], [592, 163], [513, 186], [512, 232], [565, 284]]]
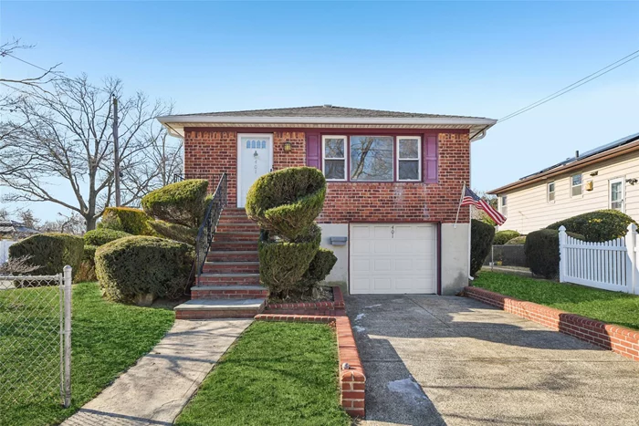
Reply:
[[[364, 376], [360, 353], [357, 351], [355, 338], [352, 335], [349, 317], [343, 315], [330, 317], [320, 315], [259, 314], [255, 318], [262, 321], [313, 322], [334, 326], [337, 331], [337, 347], [340, 358], [340, 403], [351, 416], [364, 417], [366, 376]], [[342, 369], [344, 364], [349, 364], [349, 369]]]

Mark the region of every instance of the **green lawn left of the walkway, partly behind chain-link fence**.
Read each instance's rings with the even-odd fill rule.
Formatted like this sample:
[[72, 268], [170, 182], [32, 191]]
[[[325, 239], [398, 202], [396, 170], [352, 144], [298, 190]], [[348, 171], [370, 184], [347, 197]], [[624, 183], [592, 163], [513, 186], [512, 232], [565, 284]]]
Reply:
[[[37, 322], [55, 327], [57, 292], [57, 287], [0, 291], [0, 382], [17, 382], [21, 393], [33, 394], [30, 400], [24, 397], [15, 400], [15, 395], [6, 392], [0, 395], [0, 425], [46, 425], [63, 421], [149, 352], [173, 325], [172, 310], [106, 302], [100, 296], [97, 283], [74, 286], [72, 406], [65, 410], [58, 404], [55, 389], [33, 384], [30, 377], [59, 374], [55, 348], [47, 350], [47, 345], [43, 347], [41, 343], [52, 336], [50, 333], [34, 336], [33, 319], [14, 321], [21, 310], [35, 309]], [[49, 303], [43, 303], [42, 296], [51, 296]], [[31, 367], [31, 361], [43, 355], [51, 362], [48, 369]], [[12, 375], [10, 369], [3, 367], [16, 367], [16, 363], [20, 365], [19, 375]], [[55, 381], [56, 377], [51, 379]], [[43, 395], [48, 395], [47, 400], [39, 400]]]

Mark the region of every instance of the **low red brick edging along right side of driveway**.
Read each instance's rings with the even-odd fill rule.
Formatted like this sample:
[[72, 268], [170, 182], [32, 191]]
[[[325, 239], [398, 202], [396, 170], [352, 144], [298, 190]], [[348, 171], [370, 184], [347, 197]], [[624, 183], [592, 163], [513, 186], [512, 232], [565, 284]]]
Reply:
[[468, 286], [464, 288], [464, 296], [639, 361], [639, 331], [504, 296], [484, 288]]

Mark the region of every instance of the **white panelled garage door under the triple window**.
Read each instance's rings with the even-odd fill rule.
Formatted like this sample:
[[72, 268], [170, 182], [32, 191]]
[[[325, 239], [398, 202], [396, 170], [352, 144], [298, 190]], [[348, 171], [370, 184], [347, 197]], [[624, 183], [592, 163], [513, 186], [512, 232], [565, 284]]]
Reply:
[[436, 292], [434, 223], [351, 224], [351, 294]]

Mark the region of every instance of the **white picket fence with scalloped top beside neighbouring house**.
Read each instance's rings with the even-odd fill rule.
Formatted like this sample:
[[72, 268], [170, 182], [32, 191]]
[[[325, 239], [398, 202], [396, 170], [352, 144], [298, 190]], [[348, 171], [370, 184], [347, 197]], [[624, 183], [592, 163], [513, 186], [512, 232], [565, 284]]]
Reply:
[[560, 282], [639, 294], [637, 225], [603, 243], [572, 238], [560, 227]]

